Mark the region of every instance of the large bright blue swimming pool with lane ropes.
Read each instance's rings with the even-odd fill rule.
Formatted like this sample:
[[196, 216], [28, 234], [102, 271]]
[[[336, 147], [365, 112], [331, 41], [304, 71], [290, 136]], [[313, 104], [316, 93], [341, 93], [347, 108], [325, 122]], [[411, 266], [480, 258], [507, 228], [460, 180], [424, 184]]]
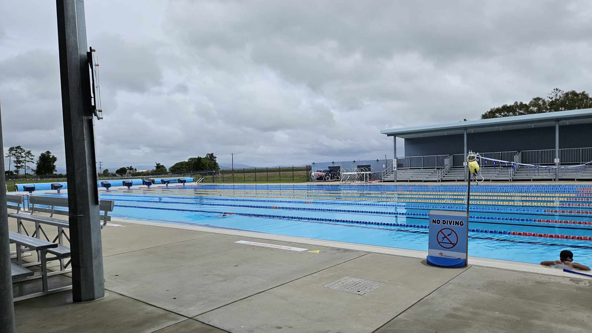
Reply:
[[[115, 217], [427, 251], [429, 210], [466, 210], [466, 185], [176, 185], [101, 198]], [[590, 185], [471, 187], [469, 255], [538, 263], [562, 249], [592, 263]]]

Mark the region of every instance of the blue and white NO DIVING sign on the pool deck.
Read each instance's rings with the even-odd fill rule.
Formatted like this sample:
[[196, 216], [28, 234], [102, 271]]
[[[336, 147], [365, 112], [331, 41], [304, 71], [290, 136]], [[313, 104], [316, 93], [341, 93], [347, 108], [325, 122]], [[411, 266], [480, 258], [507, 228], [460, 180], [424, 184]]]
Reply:
[[468, 225], [465, 212], [430, 210], [427, 263], [439, 267], [465, 267]]

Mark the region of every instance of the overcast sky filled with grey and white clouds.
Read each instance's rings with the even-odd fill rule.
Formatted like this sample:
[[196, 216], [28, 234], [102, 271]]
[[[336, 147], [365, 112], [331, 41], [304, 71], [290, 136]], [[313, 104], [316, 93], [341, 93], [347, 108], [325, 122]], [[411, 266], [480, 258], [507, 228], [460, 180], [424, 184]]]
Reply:
[[[256, 166], [392, 158], [381, 129], [591, 90], [589, 1], [85, 6], [105, 117], [96, 158], [110, 169], [208, 152], [221, 165], [231, 152], [267, 153], [235, 155]], [[50, 150], [63, 168], [54, 1], [0, 2], [0, 102], [4, 150]]]

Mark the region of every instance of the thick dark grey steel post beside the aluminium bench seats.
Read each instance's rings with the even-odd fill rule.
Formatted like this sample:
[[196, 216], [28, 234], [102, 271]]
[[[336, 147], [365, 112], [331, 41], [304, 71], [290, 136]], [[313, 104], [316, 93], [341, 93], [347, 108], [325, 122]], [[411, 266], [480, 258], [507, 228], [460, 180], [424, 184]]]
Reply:
[[56, 7], [72, 249], [72, 300], [84, 302], [105, 295], [84, 2], [57, 0]]

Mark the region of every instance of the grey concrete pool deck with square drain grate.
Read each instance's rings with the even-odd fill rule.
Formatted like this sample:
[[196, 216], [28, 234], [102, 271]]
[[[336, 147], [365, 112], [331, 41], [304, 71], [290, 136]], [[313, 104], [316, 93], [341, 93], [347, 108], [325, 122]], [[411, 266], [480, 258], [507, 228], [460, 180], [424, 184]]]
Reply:
[[[121, 226], [102, 230], [105, 297], [15, 303], [17, 332], [592, 331], [592, 279], [553, 268], [469, 258], [467, 268], [446, 269], [427, 265], [423, 251], [112, 223]], [[346, 276], [385, 284], [363, 296], [323, 287]], [[50, 277], [60, 283], [67, 278]]]

